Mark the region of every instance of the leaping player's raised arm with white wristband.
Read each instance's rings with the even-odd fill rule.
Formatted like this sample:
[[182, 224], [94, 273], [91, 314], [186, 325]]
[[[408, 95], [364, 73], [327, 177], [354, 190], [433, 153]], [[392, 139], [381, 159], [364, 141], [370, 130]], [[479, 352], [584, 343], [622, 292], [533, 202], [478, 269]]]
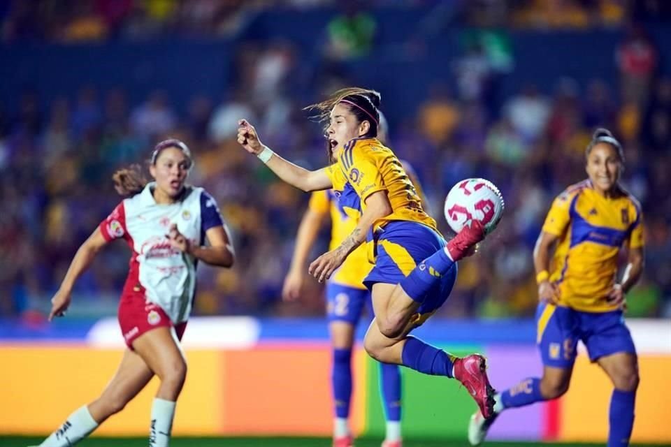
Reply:
[[261, 159], [280, 179], [303, 191], [320, 191], [333, 186], [324, 169], [308, 170], [275, 154], [259, 139], [257, 130], [246, 119], [238, 122], [238, 142], [242, 147]]

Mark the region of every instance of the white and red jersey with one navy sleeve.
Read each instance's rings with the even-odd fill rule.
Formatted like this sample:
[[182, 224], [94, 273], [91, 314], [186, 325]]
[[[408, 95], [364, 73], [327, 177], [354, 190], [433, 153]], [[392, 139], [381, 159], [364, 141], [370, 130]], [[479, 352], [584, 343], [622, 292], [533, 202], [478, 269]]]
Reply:
[[178, 324], [191, 314], [196, 258], [171, 247], [168, 228], [176, 223], [192, 244], [201, 245], [205, 231], [223, 226], [224, 220], [203, 188], [187, 186], [182, 200], [165, 205], [154, 200], [154, 186], [147, 184], [141, 193], [123, 200], [99, 228], [108, 242], [123, 238], [133, 250], [122, 295], [143, 293]]

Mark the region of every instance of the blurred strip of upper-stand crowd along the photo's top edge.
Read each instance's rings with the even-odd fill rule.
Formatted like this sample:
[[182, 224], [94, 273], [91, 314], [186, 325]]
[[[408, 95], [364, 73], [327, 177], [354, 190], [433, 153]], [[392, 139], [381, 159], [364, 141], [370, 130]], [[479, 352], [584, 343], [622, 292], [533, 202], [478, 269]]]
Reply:
[[0, 41], [231, 36], [270, 8], [435, 8], [459, 24], [521, 29], [614, 27], [671, 15], [665, 0], [0, 0]]

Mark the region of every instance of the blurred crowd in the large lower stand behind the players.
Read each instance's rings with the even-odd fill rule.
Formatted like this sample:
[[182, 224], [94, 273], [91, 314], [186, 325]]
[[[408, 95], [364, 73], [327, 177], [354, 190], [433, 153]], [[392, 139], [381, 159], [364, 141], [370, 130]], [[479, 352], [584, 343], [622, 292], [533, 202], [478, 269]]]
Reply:
[[[4, 36], [11, 22], [13, 38], [21, 38], [24, 34], [16, 34], [21, 29], [16, 9], [30, 9], [25, 5], [32, 3], [10, 3], [10, 13], [0, 15]], [[175, 11], [184, 14], [197, 5], [236, 9], [238, 3], [92, 1], [83, 9], [90, 13], [94, 6], [100, 11], [125, 5], [135, 14], [140, 4], [145, 13], [152, 5], [173, 5], [165, 6], [163, 13], [174, 17]], [[261, 7], [279, 2], [252, 3]], [[566, 3], [583, 7], [626, 2]], [[120, 22], [122, 29], [130, 26], [126, 20], [130, 19]], [[363, 28], [357, 29], [366, 29], [365, 23], [359, 24]], [[354, 25], [342, 24], [348, 26]], [[334, 31], [331, 50], [325, 51], [345, 45], [338, 41], [341, 35]], [[364, 40], [361, 45], [380, 44]], [[309, 103], [303, 101], [319, 101], [324, 92], [356, 80], [346, 73], [330, 73], [308, 93], [287, 94], [303, 89], [294, 85], [300, 61], [291, 45], [242, 43], [240, 48], [237, 81], [224, 97], [194, 96], [182, 109], [175, 107], [169, 91], [150, 91], [144, 101], [131, 103], [123, 88], [101, 91], [94, 83], [50, 103], [27, 90], [20, 103], [0, 104], [0, 315], [23, 314], [48, 303], [78, 246], [121, 200], [111, 182], [114, 170], [145, 163], [154, 143], [168, 136], [184, 140], [194, 152], [189, 182], [205, 187], [217, 199], [238, 255], [232, 270], [199, 268], [196, 313], [323, 314], [321, 289], [315, 281], [307, 282], [298, 303], [282, 303], [280, 298], [308, 195], [278, 182], [240, 149], [235, 140], [237, 120], [249, 119], [264, 142], [291, 161], [308, 168], [324, 166], [322, 129], [301, 110]], [[460, 179], [486, 177], [505, 197], [503, 221], [479, 254], [463, 262], [456, 290], [440, 315], [533, 315], [537, 302], [533, 244], [554, 196], [586, 177], [584, 149], [593, 130], [605, 126], [623, 142], [623, 184], [641, 201], [645, 216], [647, 266], [630, 293], [629, 312], [671, 316], [670, 73], [659, 73], [654, 44], [635, 29], [614, 55], [614, 83], [595, 79], [581, 85], [558, 78], [554, 91], [529, 84], [492, 108], [487, 101], [489, 90], [495, 88], [489, 83], [491, 71], [465, 54], [455, 61], [454, 87], [435, 82], [426, 97], [419, 98], [417, 113], [403, 115], [392, 126], [388, 144], [414, 166], [428, 196], [428, 209], [446, 234], [442, 200]], [[383, 96], [383, 111], [384, 103]], [[324, 228], [315, 257], [326, 249], [328, 235]], [[93, 313], [108, 309], [104, 305], [117, 299], [128, 258], [121, 242], [101, 252], [78, 282], [75, 308]]]

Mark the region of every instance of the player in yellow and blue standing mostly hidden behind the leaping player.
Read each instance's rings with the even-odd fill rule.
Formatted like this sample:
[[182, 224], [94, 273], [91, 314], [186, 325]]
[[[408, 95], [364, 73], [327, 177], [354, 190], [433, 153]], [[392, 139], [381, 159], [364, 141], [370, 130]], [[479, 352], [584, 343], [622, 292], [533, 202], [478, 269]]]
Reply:
[[[377, 139], [383, 144], [387, 141], [387, 121], [382, 112], [380, 112]], [[330, 147], [329, 156], [331, 156]], [[405, 161], [402, 163], [412, 183], [419, 187], [417, 176], [414, 175], [410, 165]], [[418, 192], [421, 196], [421, 188], [418, 188]], [[422, 200], [422, 203], [426, 203], [426, 200]], [[284, 300], [294, 301], [301, 296], [308, 255], [327, 217], [331, 218], [329, 247], [335, 249], [356, 227], [358, 214], [359, 210], [341, 206], [332, 189], [312, 193], [308, 210], [303, 214], [301, 225], [298, 227], [291, 267], [284, 279], [282, 288]], [[335, 413], [334, 447], [352, 445], [352, 432], [348, 424], [349, 403], [352, 399], [352, 345], [354, 331], [361, 319], [363, 308], [366, 307], [366, 303], [372, 306], [370, 293], [363, 285], [363, 279], [372, 268], [373, 265], [368, 263], [365, 247], [360, 246], [347, 256], [340, 268], [326, 281], [326, 314], [333, 346], [331, 388]], [[380, 363], [380, 380], [384, 414], [387, 418], [387, 433], [382, 447], [401, 447], [401, 372], [398, 365]]]

